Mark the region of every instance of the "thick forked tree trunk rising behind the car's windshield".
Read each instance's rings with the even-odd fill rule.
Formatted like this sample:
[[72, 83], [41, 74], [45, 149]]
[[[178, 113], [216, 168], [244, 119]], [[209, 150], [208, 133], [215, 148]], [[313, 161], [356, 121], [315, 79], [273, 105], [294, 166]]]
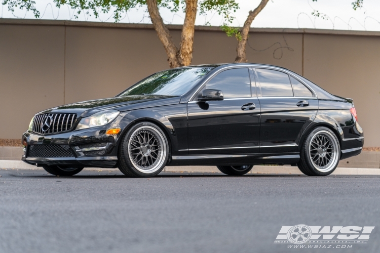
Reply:
[[170, 31], [165, 26], [164, 21], [160, 16], [157, 0], [146, 0], [151, 22], [155, 27], [158, 37], [164, 45], [166, 54], [168, 55], [169, 66], [171, 68], [190, 65], [193, 58], [194, 28], [195, 18], [197, 16], [198, 0], [186, 0], [185, 3], [185, 20], [183, 23], [181, 42], [178, 50], [170, 35]]

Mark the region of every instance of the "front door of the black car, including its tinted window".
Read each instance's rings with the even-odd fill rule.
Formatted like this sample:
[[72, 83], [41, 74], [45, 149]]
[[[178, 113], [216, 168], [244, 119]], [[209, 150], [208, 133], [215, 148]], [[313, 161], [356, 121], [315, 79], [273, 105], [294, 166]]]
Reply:
[[[187, 104], [189, 154], [259, 152], [260, 104], [250, 68], [227, 69], [203, 89], [220, 90], [222, 101]], [[251, 93], [253, 96], [251, 96]]]

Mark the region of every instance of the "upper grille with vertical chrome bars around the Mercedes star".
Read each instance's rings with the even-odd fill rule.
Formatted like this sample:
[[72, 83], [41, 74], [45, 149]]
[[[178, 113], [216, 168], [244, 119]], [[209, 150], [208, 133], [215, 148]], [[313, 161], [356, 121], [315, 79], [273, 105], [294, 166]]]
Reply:
[[[51, 116], [52, 121], [47, 131], [42, 130], [42, 124], [47, 117]], [[59, 132], [70, 131], [74, 125], [77, 114], [73, 113], [45, 113], [36, 115], [33, 121], [33, 132], [37, 134], [47, 135]]]

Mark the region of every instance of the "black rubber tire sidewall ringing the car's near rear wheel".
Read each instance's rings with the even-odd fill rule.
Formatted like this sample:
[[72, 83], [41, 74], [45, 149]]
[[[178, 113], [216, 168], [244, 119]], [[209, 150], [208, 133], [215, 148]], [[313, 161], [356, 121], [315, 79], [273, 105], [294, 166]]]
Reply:
[[[337, 152], [336, 152], [337, 162], [336, 162], [335, 166], [330, 171], [328, 171], [328, 172], [318, 171], [314, 167], [313, 162], [310, 159], [310, 155], [309, 155], [309, 153], [310, 153], [309, 145], [310, 145], [310, 142], [312, 141], [312, 137], [314, 136], [315, 133], [317, 133], [319, 131], [322, 131], [322, 130], [329, 132], [331, 134], [331, 136], [333, 138], [335, 138], [335, 141], [337, 143]], [[305, 162], [306, 162], [307, 166], [309, 167], [309, 170], [311, 170], [313, 172], [313, 174], [316, 174], [318, 176], [327, 176], [327, 175], [330, 175], [331, 173], [333, 173], [335, 171], [336, 167], [339, 164], [339, 160], [340, 160], [340, 144], [339, 144], [338, 138], [336, 137], [336, 135], [335, 135], [335, 133], [333, 131], [331, 131], [329, 128], [326, 128], [325, 126], [319, 126], [319, 127], [315, 128], [315, 129], [313, 129], [309, 133], [309, 135], [308, 135], [308, 137], [307, 137], [304, 145], [305, 145], [305, 147], [304, 147], [305, 154], [303, 156], [305, 157]]]

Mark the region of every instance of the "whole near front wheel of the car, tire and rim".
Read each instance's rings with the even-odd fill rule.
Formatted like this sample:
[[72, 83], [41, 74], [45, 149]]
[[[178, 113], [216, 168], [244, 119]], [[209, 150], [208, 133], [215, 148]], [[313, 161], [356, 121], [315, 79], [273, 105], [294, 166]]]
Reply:
[[154, 177], [163, 170], [168, 157], [165, 133], [152, 122], [139, 122], [124, 134], [120, 143], [119, 170], [127, 177]]

